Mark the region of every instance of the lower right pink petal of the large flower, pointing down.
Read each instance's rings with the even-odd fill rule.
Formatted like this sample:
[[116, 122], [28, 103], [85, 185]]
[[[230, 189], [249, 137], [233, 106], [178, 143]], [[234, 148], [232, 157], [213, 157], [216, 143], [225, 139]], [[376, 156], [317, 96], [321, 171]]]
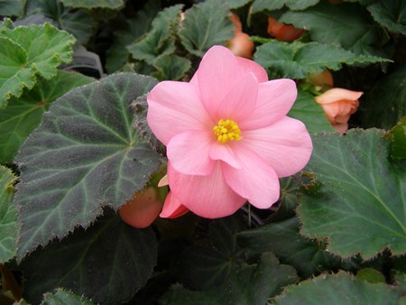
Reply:
[[241, 148], [236, 153], [243, 169], [237, 170], [224, 164], [222, 169], [226, 183], [254, 207], [271, 207], [280, 196], [279, 179], [272, 166], [248, 149]]

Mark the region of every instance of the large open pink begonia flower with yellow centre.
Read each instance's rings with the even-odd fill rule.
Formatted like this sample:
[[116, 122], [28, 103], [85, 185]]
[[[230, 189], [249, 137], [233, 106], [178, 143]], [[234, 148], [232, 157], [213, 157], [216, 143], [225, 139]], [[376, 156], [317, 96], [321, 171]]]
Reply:
[[162, 81], [148, 94], [148, 124], [167, 146], [170, 196], [161, 217], [187, 209], [226, 217], [249, 201], [269, 208], [280, 177], [309, 162], [305, 125], [286, 116], [297, 97], [291, 79], [268, 81], [252, 60], [212, 47], [190, 82]]

